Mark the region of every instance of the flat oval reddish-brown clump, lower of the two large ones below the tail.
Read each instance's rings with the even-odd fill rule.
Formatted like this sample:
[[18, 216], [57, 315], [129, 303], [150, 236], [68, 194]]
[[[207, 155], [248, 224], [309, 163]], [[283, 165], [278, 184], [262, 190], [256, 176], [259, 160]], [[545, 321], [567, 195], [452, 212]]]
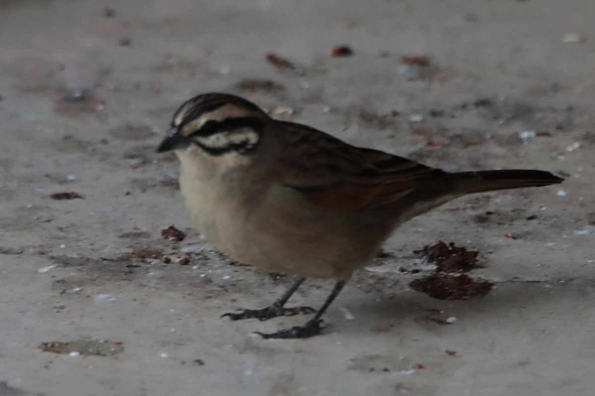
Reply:
[[465, 300], [472, 297], [483, 297], [490, 292], [493, 285], [490, 281], [474, 280], [465, 274], [432, 274], [409, 283], [411, 289], [439, 300]]

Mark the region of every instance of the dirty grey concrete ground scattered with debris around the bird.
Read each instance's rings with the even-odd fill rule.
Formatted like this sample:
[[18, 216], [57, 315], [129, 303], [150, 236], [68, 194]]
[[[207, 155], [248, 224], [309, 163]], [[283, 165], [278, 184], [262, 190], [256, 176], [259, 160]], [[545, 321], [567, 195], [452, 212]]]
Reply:
[[[593, 15], [592, 0], [0, 2], [0, 395], [592, 394]], [[566, 181], [415, 218], [321, 335], [262, 340], [306, 318], [220, 315], [290, 278], [203, 240], [177, 160], [155, 153], [207, 91], [446, 170]], [[172, 224], [186, 239], [162, 239]], [[431, 271], [412, 251], [437, 240], [479, 251], [471, 276], [494, 289], [412, 290]]]

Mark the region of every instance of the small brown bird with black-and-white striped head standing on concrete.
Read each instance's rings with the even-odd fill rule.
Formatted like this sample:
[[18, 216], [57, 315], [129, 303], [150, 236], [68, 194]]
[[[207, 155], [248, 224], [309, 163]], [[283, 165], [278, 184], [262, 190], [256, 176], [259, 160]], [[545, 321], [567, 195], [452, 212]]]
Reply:
[[[467, 194], [563, 181], [542, 170], [449, 173], [271, 118], [226, 93], [181, 104], [157, 151], [179, 158], [181, 195], [209, 242], [239, 262], [295, 275], [271, 306], [223, 315], [262, 321], [315, 313], [300, 326], [256, 332], [263, 338], [319, 334], [322, 314], [353, 271], [412, 217]], [[318, 310], [287, 308], [306, 278], [334, 280], [333, 290]]]

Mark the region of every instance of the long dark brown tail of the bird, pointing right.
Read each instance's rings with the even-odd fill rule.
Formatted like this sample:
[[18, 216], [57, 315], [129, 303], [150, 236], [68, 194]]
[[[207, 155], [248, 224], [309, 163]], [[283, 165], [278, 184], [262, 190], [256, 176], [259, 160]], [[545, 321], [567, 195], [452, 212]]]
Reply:
[[453, 173], [465, 194], [508, 188], [541, 187], [562, 183], [564, 179], [544, 170], [481, 170]]

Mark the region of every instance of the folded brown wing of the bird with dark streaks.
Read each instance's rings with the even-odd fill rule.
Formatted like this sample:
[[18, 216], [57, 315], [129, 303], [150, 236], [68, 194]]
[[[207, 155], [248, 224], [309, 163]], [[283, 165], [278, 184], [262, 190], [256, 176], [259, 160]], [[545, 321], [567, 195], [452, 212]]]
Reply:
[[382, 151], [353, 147], [303, 125], [286, 126], [290, 139], [278, 163], [280, 182], [325, 210], [389, 205], [446, 174]]

